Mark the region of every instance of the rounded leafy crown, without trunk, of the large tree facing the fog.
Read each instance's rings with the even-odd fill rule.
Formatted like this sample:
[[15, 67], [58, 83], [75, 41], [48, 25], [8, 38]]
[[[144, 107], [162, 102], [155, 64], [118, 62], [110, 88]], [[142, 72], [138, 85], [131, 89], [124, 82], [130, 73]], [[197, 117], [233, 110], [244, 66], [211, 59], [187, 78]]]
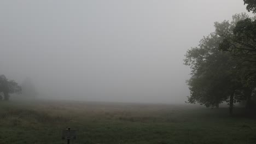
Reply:
[[188, 50], [184, 64], [190, 65], [188, 103], [217, 106], [241, 87], [237, 80], [236, 63], [228, 52], [219, 51], [222, 39], [216, 33], [200, 41], [199, 47]]

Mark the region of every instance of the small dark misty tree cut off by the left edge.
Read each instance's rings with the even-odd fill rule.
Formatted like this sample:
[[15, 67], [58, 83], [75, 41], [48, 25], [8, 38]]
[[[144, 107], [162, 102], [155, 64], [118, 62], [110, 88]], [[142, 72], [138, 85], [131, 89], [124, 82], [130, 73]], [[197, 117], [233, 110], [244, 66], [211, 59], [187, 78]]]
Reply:
[[4, 100], [9, 100], [9, 94], [20, 93], [21, 87], [14, 80], [8, 80], [5, 75], [0, 75], [0, 92], [3, 93]]

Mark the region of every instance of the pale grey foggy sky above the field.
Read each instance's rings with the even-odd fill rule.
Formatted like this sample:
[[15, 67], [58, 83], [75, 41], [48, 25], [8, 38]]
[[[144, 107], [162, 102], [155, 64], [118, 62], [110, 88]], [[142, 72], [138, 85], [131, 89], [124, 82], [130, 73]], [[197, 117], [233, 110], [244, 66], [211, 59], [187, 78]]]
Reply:
[[242, 0], [0, 1], [0, 74], [40, 97], [183, 103], [185, 52]]

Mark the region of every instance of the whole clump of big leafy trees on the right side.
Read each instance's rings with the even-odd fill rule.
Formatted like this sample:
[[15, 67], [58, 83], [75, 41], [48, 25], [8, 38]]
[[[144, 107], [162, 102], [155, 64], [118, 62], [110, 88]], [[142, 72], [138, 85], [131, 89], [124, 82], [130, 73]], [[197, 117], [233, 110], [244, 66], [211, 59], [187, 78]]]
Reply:
[[[256, 1], [244, 0], [247, 10], [256, 14]], [[235, 14], [232, 21], [215, 22], [216, 31], [203, 37], [198, 47], [185, 55], [191, 68], [188, 103], [219, 107], [227, 102], [232, 114], [234, 104], [246, 100], [247, 110], [255, 107], [256, 20], [246, 13]]]

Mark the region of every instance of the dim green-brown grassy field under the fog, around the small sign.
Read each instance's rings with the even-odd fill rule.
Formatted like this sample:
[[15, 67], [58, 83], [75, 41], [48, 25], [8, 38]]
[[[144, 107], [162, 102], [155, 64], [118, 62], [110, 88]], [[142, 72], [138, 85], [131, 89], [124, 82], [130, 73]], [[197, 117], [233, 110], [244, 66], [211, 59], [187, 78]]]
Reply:
[[66, 127], [77, 130], [71, 143], [256, 143], [256, 119], [236, 107], [0, 101], [0, 143], [67, 143]]

